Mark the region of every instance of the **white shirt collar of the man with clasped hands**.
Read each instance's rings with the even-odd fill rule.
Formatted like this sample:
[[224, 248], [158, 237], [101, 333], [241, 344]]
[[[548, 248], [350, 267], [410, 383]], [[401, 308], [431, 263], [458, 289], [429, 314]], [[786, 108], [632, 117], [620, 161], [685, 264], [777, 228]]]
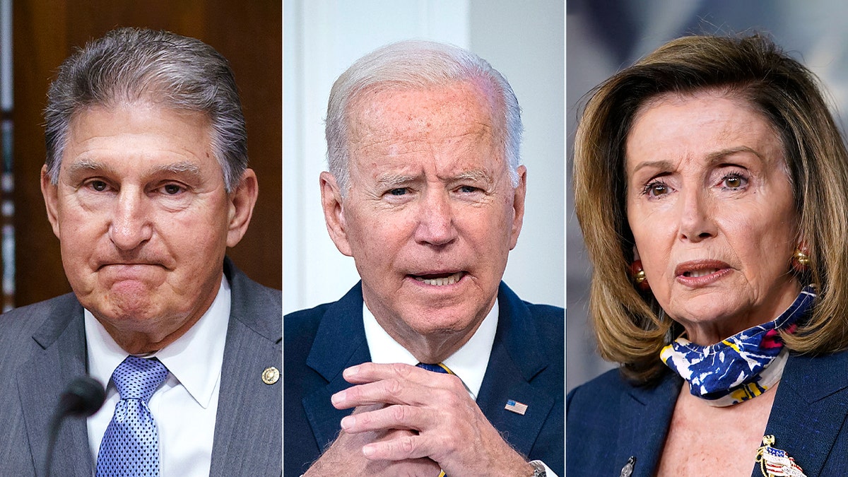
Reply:
[[[442, 362], [462, 379], [462, 383], [466, 385], [468, 392], [475, 400], [480, 393], [483, 376], [486, 374], [488, 356], [492, 354], [494, 334], [498, 330], [498, 313], [498, 300], [495, 299], [494, 306], [483, 318], [483, 323], [480, 323], [477, 331], [471, 335], [471, 339]], [[377, 318], [368, 306], [365, 306], [365, 300], [362, 302], [362, 321], [365, 325], [365, 340], [368, 343], [372, 362], [402, 362], [412, 366], [418, 364], [416, 357], [386, 333], [380, 323], [377, 323]]]

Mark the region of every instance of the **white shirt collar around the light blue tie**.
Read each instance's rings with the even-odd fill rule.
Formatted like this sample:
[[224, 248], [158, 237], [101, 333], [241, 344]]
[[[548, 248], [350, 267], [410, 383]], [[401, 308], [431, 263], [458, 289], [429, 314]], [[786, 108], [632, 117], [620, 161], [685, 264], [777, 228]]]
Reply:
[[[220, 379], [224, 361], [226, 328], [230, 319], [230, 283], [222, 277], [215, 300], [192, 328], [165, 348], [150, 356], [157, 357], [182, 384], [192, 398], [209, 407], [215, 385]], [[109, 384], [114, 369], [124, 361], [124, 351], [98, 322], [85, 310], [88, 371], [94, 379]]]

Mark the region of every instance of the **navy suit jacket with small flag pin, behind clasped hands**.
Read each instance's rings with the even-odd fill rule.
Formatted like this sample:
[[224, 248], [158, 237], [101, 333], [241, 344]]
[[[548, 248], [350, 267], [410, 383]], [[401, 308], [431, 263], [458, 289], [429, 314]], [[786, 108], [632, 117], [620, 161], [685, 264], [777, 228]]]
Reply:
[[[518, 452], [562, 474], [564, 311], [519, 300], [504, 283], [498, 300], [498, 330], [477, 405]], [[350, 385], [342, 370], [371, 361], [361, 283], [341, 300], [288, 314], [283, 322], [283, 474], [297, 477], [336, 439], [350, 413], [330, 403]], [[527, 413], [506, 411], [510, 399], [527, 404]]]

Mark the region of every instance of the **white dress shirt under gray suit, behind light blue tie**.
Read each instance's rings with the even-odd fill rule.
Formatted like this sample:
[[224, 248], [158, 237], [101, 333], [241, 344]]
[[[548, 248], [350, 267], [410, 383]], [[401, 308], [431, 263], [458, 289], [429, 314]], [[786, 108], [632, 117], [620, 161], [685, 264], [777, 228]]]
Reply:
[[[230, 283], [221, 279], [209, 310], [186, 334], [165, 348], [143, 357], [157, 357], [168, 368], [168, 378], [150, 398], [150, 412], [159, 429], [161, 477], [209, 475], [215, 414], [218, 410], [220, 369], [224, 361], [226, 328], [230, 319]], [[128, 353], [117, 345], [103, 325], [85, 311], [88, 371], [106, 386], [106, 401], [88, 418], [88, 443], [97, 462], [100, 441], [120, 400], [110, 381]]]

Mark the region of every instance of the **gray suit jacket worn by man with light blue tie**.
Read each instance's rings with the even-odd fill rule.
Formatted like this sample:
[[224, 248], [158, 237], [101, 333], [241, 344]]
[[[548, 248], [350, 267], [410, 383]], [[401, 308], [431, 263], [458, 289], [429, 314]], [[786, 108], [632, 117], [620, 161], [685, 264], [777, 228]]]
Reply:
[[[282, 295], [225, 260], [232, 286], [220, 398], [212, 449], [213, 476], [282, 474]], [[43, 475], [50, 418], [72, 379], [86, 374], [82, 306], [73, 294], [0, 316], [0, 475]], [[67, 418], [53, 452], [53, 475], [90, 477], [86, 421]]]

